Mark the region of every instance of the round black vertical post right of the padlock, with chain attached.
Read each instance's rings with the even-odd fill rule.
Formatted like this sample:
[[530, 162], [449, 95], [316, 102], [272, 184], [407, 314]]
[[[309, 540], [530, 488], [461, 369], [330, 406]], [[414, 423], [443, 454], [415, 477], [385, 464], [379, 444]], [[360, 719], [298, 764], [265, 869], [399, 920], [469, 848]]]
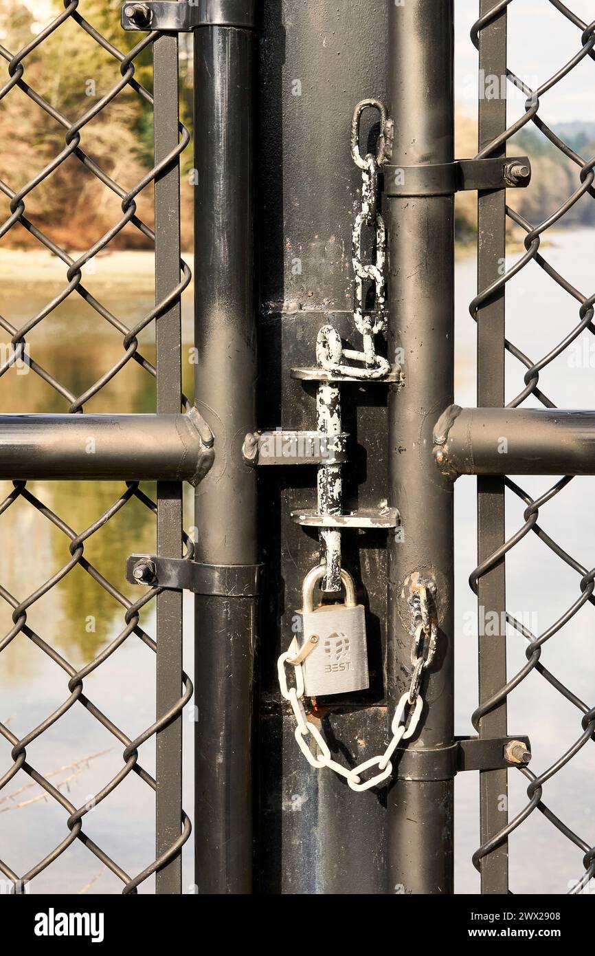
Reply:
[[[390, 3], [389, 102], [395, 166], [454, 160], [453, 0]], [[453, 487], [436, 476], [432, 426], [453, 400], [454, 197], [392, 198], [390, 355], [401, 349], [405, 386], [389, 396], [389, 504], [404, 540], [389, 545], [390, 712], [411, 680], [408, 581], [436, 581], [436, 661], [409, 748], [445, 748], [454, 735]], [[398, 770], [397, 770], [398, 772]], [[389, 793], [389, 891], [453, 892], [453, 779], [397, 779]]]

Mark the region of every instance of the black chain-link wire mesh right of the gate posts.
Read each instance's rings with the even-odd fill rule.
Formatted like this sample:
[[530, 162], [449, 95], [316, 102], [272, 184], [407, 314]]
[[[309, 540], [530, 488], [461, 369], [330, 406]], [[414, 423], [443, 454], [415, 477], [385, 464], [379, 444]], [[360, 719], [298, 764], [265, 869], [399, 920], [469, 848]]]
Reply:
[[[572, 192], [571, 195], [567, 197], [562, 205], [554, 209], [550, 215], [536, 225], [528, 222], [524, 216], [514, 209], [514, 207], [506, 207], [506, 214], [509, 219], [525, 233], [524, 254], [522, 254], [518, 261], [516, 261], [514, 265], [504, 272], [495, 282], [493, 282], [489, 287], [482, 289], [478, 293], [477, 297], [474, 298], [473, 302], [471, 303], [470, 312], [477, 321], [478, 311], [480, 308], [486, 303], [493, 301], [495, 296], [497, 296], [498, 293], [500, 293], [500, 291], [503, 290], [509, 283], [514, 282], [515, 278], [517, 278], [521, 272], [523, 272], [523, 270], [529, 266], [530, 263], [535, 263], [542, 269], [543, 272], [546, 273], [547, 276], [549, 276], [550, 279], [553, 279], [554, 282], [557, 283], [565, 293], [568, 293], [576, 300], [576, 302], [579, 304], [579, 320], [576, 325], [563, 336], [563, 338], [555, 345], [555, 347], [551, 348], [547, 354], [543, 355], [541, 358], [528, 357], [514, 344], [514, 342], [506, 339], [505, 348], [507, 352], [515, 359], [518, 359], [525, 369], [523, 376], [523, 387], [516, 397], [508, 403], [508, 407], [518, 407], [523, 402], [533, 399], [538, 400], [547, 408], [555, 408], [556, 405], [554, 402], [542, 391], [542, 387], [540, 385], [540, 373], [542, 373], [542, 370], [544, 370], [555, 359], [557, 359], [564, 352], [564, 350], [568, 349], [569, 346], [571, 346], [572, 343], [575, 342], [576, 339], [584, 332], [595, 335], [595, 326], [592, 322], [595, 295], [586, 295], [579, 289], [575, 288], [575, 286], [567, 278], [565, 278], [561, 272], [555, 269], [551, 263], [548, 262], [547, 255], [544, 255], [541, 251], [542, 237], [548, 229], [554, 228], [557, 224], [559, 224], [563, 217], [566, 216], [574, 206], [576, 206], [576, 204], [584, 195], [589, 195], [591, 198], [595, 198], [595, 190], [593, 189], [593, 181], [595, 180], [595, 173], [593, 171], [595, 167], [595, 158], [584, 159], [584, 157], [579, 155], [575, 149], [571, 148], [571, 146], [569, 146], [560, 135], [557, 135], [542, 120], [542, 117], [540, 116], [542, 99], [545, 97], [545, 95], [554, 90], [559, 83], [562, 83], [564, 77], [568, 76], [570, 72], [574, 70], [586, 57], [595, 59], [595, 54], [593, 52], [595, 48], [595, 22], [590, 24], [584, 23], [579, 16], [569, 10], [569, 8], [565, 4], [561, 3], [560, 0], [548, 0], [548, 2], [552, 7], [560, 12], [561, 17], [565, 18], [565, 20], [569, 21], [574, 27], [576, 27], [578, 50], [576, 54], [574, 54], [567, 62], [562, 63], [560, 68], [546, 81], [542, 82], [542, 84], [536, 89], [530, 88], [522, 76], [519, 76], [517, 73], [513, 72], [512, 69], [507, 68], [508, 80], [518, 89], [520, 89], [524, 96], [526, 96], [525, 111], [520, 119], [508, 126], [508, 128], [502, 132], [501, 135], [499, 135], [484, 149], [482, 149], [478, 156], [490, 156], [513, 136], [515, 136], [515, 134], [519, 133], [524, 126], [526, 126], [528, 123], [533, 123], [543, 137], [545, 137], [549, 142], [553, 143], [553, 145], [557, 147], [564, 157], [567, 157], [572, 161], [572, 163], [576, 163], [579, 170], [579, 185], [577, 185], [577, 188]], [[494, 22], [499, 18], [502, 11], [505, 11], [511, 3], [512, 0], [501, 0], [501, 2], [497, 3], [493, 9], [489, 11], [489, 13], [478, 19], [471, 33], [472, 40], [476, 47], [479, 46], [479, 37], [481, 32], [483, 30], [489, 29], [490, 26], [493, 25]], [[539, 342], [537, 341], [536, 346], [539, 346]], [[521, 499], [523, 504], [526, 506], [523, 514], [524, 523], [517, 532], [512, 534], [504, 543], [502, 543], [498, 550], [494, 551], [493, 554], [490, 554], [486, 560], [481, 562], [481, 564], [471, 575], [470, 583], [473, 590], [477, 593], [478, 584], [481, 578], [496, 568], [499, 563], [501, 563], [504, 555], [509, 554], [511, 550], [519, 545], [521, 540], [530, 533], [535, 534], [545, 548], [549, 549], [551, 553], [560, 558], [565, 565], [572, 569], [572, 571], [577, 575], [576, 598], [557, 619], [553, 620], [549, 626], [542, 631], [542, 633], [532, 633], [522, 621], [516, 619], [508, 612], [506, 613], [506, 619], [510, 627], [514, 629], [514, 632], [516, 632], [521, 639], [526, 641], [525, 655], [527, 658], [527, 663], [518, 671], [518, 673], [514, 675], [514, 677], [508, 680], [505, 685], [501, 686], [495, 695], [483, 701], [473, 714], [473, 724], [474, 727], [478, 729], [481, 718], [493, 711], [495, 707], [499, 706], [499, 704], [505, 701], [509, 694], [511, 694], [512, 691], [514, 691], [517, 687], [520, 687], [533, 671], [540, 674], [544, 681], [559, 691], [563, 698], [571, 706], [576, 707], [576, 709], [582, 714], [582, 732], [577, 736], [576, 740], [574, 740], [570, 746], [563, 750], [558, 759], [556, 759], [549, 767], [542, 769], [539, 772], [529, 770], [527, 767], [520, 768], [521, 773], [523, 773], [529, 781], [527, 787], [528, 802], [521, 809], [521, 812], [515, 815], [512, 820], [510, 820], [506, 827], [502, 828], [498, 834], [493, 836], [489, 841], [484, 842], [478, 848], [473, 858], [476, 867], [479, 869], [481, 867], [481, 861], [490, 853], [492, 853], [497, 847], [501, 846], [508, 836], [513, 834], [516, 830], [518, 830], [519, 827], [521, 827], [521, 824], [527, 819], [527, 817], [538, 810], [552, 824], [552, 826], [556, 828], [556, 830], [558, 830], [563, 836], [567, 837], [567, 839], [577, 847], [577, 851], [581, 855], [584, 867], [584, 875], [569, 889], [571, 894], [576, 894], [582, 892], [595, 875], [595, 847], [590, 846], [589, 842], [586, 841], [583, 836], [575, 833], [559, 815], [553, 813], [552, 810], [547, 806], [544, 796], [547, 791], [548, 781], [550, 781], [555, 774], [562, 771], [563, 768], [566, 767], [566, 765], [573, 759], [573, 757], [575, 757], [577, 753], [579, 753], [579, 751], [585, 747], [589, 740], [595, 741], [595, 707], [584, 703], [584, 701], [581, 700], [580, 697], [577, 696], [577, 694], [574, 693], [570, 687], [566, 686], [562, 680], [560, 680], [554, 673], [544, 666], [541, 658], [542, 648], [545, 646], [547, 641], [560, 641], [563, 637], [564, 625], [567, 625], [572, 619], [575, 618], [584, 604], [587, 602], [595, 604], [595, 598], [593, 597], [593, 591], [595, 588], [595, 570], [588, 570], [585, 568], [578, 560], [572, 557], [571, 554], [568, 554], [553, 537], [543, 531], [539, 524], [540, 512], [547, 504], [552, 502], [559, 495], [563, 494], [563, 492], [567, 494], [568, 492], [566, 489], [572, 481], [573, 479], [570, 477], [562, 477], [540, 496], [533, 498], [527, 493], [527, 491], [522, 489], [520, 485], [512, 481], [510, 478], [507, 478], [505, 481], [506, 488], [509, 489], [513, 495], [516, 495], [519, 499]], [[539, 760], [539, 753], [535, 756]], [[483, 793], [482, 798], [484, 798]]]

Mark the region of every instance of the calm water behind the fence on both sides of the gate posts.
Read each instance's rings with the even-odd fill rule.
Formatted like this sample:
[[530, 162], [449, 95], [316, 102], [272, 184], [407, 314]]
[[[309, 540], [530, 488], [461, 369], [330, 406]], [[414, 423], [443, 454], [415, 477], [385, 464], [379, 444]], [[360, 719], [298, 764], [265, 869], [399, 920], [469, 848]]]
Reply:
[[[592, 232], [563, 232], [543, 250], [545, 257], [575, 286], [590, 294]], [[141, 253], [142, 255], [142, 253]], [[117, 253], [114, 253], [114, 260]], [[513, 257], [514, 258], [514, 257]], [[114, 261], [113, 260], [113, 261]], [[512, 260], [511, 260], [512, 261]], [[1, 266], [1, 264], [0, 264]], [[104, 269], [104, 275], [101, 270]], [[138, 288], [121, 281], [109, 282], [110, 264], [99, 264], [90, 276], [89, 288], [108, 309], [134, 324], [153, 302], [150, 272]], [[16, 276], [15, 276], [16, 278]], [[5, 275], [0, 313], [20, 325], [56, 293], [51, 278], [24, 284]], [[87, 281], [87, 280], [86, 280]], [[45, 284], [44, 284], [45, 283]], [[468, 303], [476, 291], [473, 257], [457, 262], [457, 380], [456, 401], [475, 405], [475, 323]], [[507, 333], [532, 359], [539, 359], [579, 321], [578, 303], [563, 293], [542, 270], [531, 263], [509, 286]], [[8, 340], [7, 336], [7, 340]], [[190, 300], [183, 306], [183, 338], [191, 345]], [[121, 336], [78, 296], [70, 296], [28, 336], [32, 358], [51, 372], [75, 395], [82, 394], [122, 353]], [[556, 359], [542, 372], [544, 392], [560, 407], [593, 407], [595, 349], [584, 333], [579, 345]], [[140, 351], [154, 359], [151, 334], [140, 337]], [[593, 353], [592, 361], [590, 360]], [[0, 378], [0, 412], [67, 411], [68, 402], [31, 371], [12, 369]], [[184, 371], [185, 387], [191, 389], [191, 372]], [[507, 394], [511, 399], [522, 388], [524, 368], [509, 359]], [[530, 402], [535, 403], [535, 402]], [[86, 411], [152, 411], [155, 383], [138, 363], [128, 365], [85, 405]], [[523, 478], [521, 486], [533, 496], [553, 481]], [[11, 483], [2, 483], [2, 497]], [[76, 532], [88, 527], [112, 501], [120, 483], [89, 484], [31, 482], [28, 488], [49, 509], [60, 515]], [[152, 488], [147, 487], [151, 493]], [[593, 519], [589, 501], [595, 479], [577, 478], [540, 516], [540, 524], [563, 548], [587, 568], [593, 559]], [[190, 507], [187, 496], [186, 507]], [[521, 524], [524, 506], [509, 496], [507, 530]], [[188, 519], [190, 512], [188, 511]], [[191, 521], [188, 520], [188, 524]], [[69, 538], [47, 516], [22, 497], [0, 514], [2, 548], [0, 582], [18, 600], [30, 595], [70, 556]], [[457, 733], [473, 732], [470, 715], [477, 706], [476, 601], [467, 579], [475, 567], [475, 479], [457, 482], [456, 489], [456, 621], [457, 621]], [[152, 550], [155, 519], [140, 502], [131, 500], [85, 544], [85, 556], [125, 594], [131, 588], [122, 580], [124, 561], [135, 551]], [[528, 535], [507, 561], [508, 607], [528, 615], [533, 628], [542, 633], [579, 595], [579, 576], [551, 554], [535, 535]], [[192, 597], [184, 597], [184, 647], [186, 669], [192, 672]], [[593, 655], [595, 609], [585, 605], [563, 630], [549, 641], [542, 663], [558, 675], [587, 703], [595, 699]], [[533, 617], [531, 617], [533, 616]], [[90, 620], [90, 617], [93, 620]], [[525, 619], [523, 617], [523, 619]], [[87, 663], [114, 640], [123, 626], [118, 602], [81, 568], [76, 567], [28, 612], [28, 623], [75, 667]], [[154, 610], [141, 620], [154, 633]], [[11, 629], [11, 607], [0, 602], [0, 626]], [[524, 641], [509, 637], [509, 673], [525, 663]], [[0, 720], [18, 736], [35, 727], [67, 699], [67, 677], [58, 666], [23, 634], [0, 656]], [[129, 737], [153, 721], [155, 655], [133, 635], [117, 653], [85, 680], [85, 693]], [[543, 771], [581, 733], [580, 712], [534, 672], [509, 700], [511, 732], [529, 734], [533, 745], [532, 769]], [[188, 709], [184, 721], [186, 772], [184, 805], [192, 807], [192, 723]], [[154, 771], [154, 743], [140, 749], [139, 762]], [[0, 741], [0, 766], [11, 766], [10, 745]], [[28, 748], [28, 759], [60, 786], [75, 806], [84, 803], [121, 767], [122, 747], [116, 738], [83, 707], [73, 706], [57, 723]], [[510, 814], [526, 802], [526, 781], [510, 774]], [[595, 780], [595, 748], [587, 745], [544, 788], [544, 799], [573, 830], [589, 843], [595, 842], [591, 796]], [[456, 781], [457, 892], [478, 892], [478, 875], [471, 855], [478, 846], [478, 775], [459, 774]], [[130, 807], [135, 807], [131, 818]], [[154, 858], [154, 798], [133, 772], [117, 787], [102, 808], [106, 812], [85, 817], [85, 831], [130, 874], [136, 874]], [[19, 772], [0, 793], [0, 856], [17, 873], [25, 872], [43, 853], [50, 852], [64, 836], [64, 811], [43, 793], [27, 774]], [[539, 813], [533, 814], [511, 839], [512, 889], [527, 893], [564, 893], [583, 872], [581, 852], [561, 836]], [[78, 841], [32, 883], [35, 893], [117, 893], [121, 883]], [[192, 850], [184, 854], [184, 888], [192, 891]], [[151, 892], [148, 881], [141, 892]]]

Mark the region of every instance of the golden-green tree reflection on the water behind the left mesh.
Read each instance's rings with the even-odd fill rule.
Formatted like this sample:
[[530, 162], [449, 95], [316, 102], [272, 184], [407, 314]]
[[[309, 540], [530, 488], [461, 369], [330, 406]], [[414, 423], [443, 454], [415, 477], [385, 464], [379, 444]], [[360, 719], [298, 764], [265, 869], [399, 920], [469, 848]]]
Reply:
[[[152, 264], [142, 254], [138, 257], [146, 272], [146, 282], [135, 290], [95, 284], [93, 292], [103, 305], [121, 321], [132, 325], [138, 316], [152, 306]], [[96, 278], [96, 277], [95, 277]], [[91, 288], [91, 283], [87, 283]], [[147, 288], [148, 287], [148, 288]], [[42, 282], [23, 286], [3, 282], [3, 308], [13, 325], [21, 325], [40, 311], [56, 293], [56, 286]], [[185, 300], [188, 301], [187, 299]], [[7, 308], [7, 306], [9, 308]], [[186, 305], [184, 303], [184, 312]], [[187, 326], [187, 317], [185, 321]], [[44, 319], [28, 335], [29, 355], [70, 392], [78, 396], [98, 380], [122, 355], [122, 336], [80, 296], [69, 296], [55, 312]], [[9, 343], [5, 345], [8, 349]], [[189, 347], [189, 346], [188, 346]], [[153, 330], [145, 330], [139, 338], [144, 359], [155, 362]], [[184, 363], [184, 390], [191, 392], [192, 367]], [[137, 361], [129, 361], [96, 396], [85, 404], [86, 412], [153, 412], [156, 402], [154, 377]], [[66, 412], [68, 400], [58, 394], [47, 381], [23, 362], [0, 378], [0, 410], [9, 412]], [[155, 484], [142, 489], [154, 499]], [[83, 532], [117, 500], [125, 486], [121, 482], [29, 482], [28, 490], [48, 509], [74, 530]], [[0, 482], [0, 498], [13, 490], [11, 482]], [[7, 590], [22, 600], [63, 566], [70, 558], [69, 537], [52, 521], [23, 498], [17, 498], [0, 519], [6, 546], [0, 551], [0, 581]], [[130, 596], [134, 589], [123, 576], [124, 562], [132, 551], [155, 549], [155, 515], [137, 498], [131, 498], [99, 532], [85, 542], [85, 558], [118, 590]], [[64, 577], [28, 611], [32, 626], [37, 620], [46, 640], [68, 652], [78, 663], [96, 656], [109, 639], [113, 628], [123, 620], [123, 610], [81, 567]], [[6, 633], [11, 627], [11, 608], [0, 605], [0, 627]], [[12, 679], [25, 676], [26, 667], [19, 660], [11, 665], [15, 649], [3, 657]], [[18, 654], [20, 659], [21, 655]], [[24, 654], [26, 658], [27, 655]], [[0, 678], [1, 680], [1, 678]]]

